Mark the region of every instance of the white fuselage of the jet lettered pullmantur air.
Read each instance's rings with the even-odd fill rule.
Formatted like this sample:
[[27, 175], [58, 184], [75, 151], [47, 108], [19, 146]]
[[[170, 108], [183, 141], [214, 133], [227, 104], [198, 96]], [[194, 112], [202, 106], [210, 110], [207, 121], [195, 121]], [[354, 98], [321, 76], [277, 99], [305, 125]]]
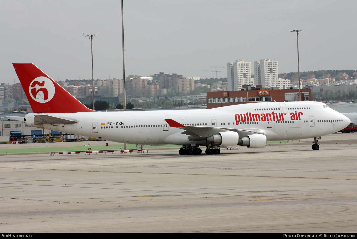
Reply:
[[[34, 125], [35, 115], [77, 120], [75, 124]], [[165, 119], [183, 125], [230, 129], [260, 129], [267, 140], [295, 140], [335, 133], [350, 120], [320, 102], [263, 102], [214, 109], [126, 112], [30, 113], [26, 124], [60, 132], [128, 144], [202, 144], [189, 140], [184, 129], [171, 128]], [[220, 129], [223, 128], [223, 129]], [[207, 137], [210, 133], [207, 133]]]

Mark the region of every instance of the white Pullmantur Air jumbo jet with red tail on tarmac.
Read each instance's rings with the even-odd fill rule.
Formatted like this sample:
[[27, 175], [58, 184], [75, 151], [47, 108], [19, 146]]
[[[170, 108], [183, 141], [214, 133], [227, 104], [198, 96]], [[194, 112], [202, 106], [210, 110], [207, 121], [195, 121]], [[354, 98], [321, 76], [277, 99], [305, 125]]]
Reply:
[[[180, 155], [220, 154], [221, 146], [263, 148], [267, 140], [314, 138], [351, 121], [321, 102], [262, 102], [214, 109], [101, 112], [88, 109], [32, 63], [14, 63], [34, 113], [27, 125], [141, 145], [182, 145]], [[17, 117], [19, 118], [19, 117]]]

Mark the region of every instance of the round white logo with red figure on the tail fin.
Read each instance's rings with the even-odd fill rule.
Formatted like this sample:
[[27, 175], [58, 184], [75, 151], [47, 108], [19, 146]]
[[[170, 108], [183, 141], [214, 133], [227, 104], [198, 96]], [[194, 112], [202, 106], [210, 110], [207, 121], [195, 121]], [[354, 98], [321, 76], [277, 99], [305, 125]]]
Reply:
[[46, 103], [54, 97], [55, 85], [49, 78], [40, 76], [32, 80], [29, 91], [33, 100]]

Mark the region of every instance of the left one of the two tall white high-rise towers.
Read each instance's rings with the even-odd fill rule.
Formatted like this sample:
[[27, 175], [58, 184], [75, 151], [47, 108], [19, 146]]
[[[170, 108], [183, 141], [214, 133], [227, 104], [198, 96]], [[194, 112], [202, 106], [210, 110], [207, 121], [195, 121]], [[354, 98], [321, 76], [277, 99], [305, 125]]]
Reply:
[[253, 84], [251, 62], [237, 60], [227, 63], [228, 90], [240, 90], [242, 85]]

